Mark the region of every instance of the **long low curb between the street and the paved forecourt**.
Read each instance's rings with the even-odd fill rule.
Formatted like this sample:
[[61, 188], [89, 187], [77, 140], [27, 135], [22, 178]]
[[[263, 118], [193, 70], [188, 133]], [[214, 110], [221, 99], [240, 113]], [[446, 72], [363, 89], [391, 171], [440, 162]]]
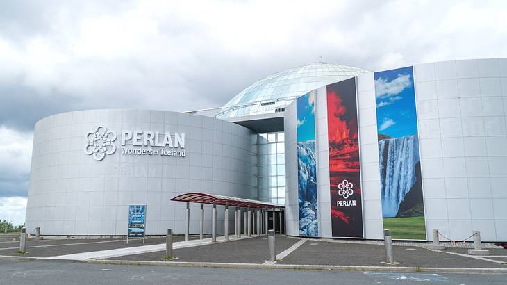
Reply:
[[250, 269], [295, 269], [295, 270], [340, 270], [368, 272], [426, 272], [426, 273], [507, 273], [507, 268], [431, 268], [397, 266], [326, 266], [299, 264], [259, 264], [259, 263], [214, 263], [184, 261], [128, 261], [128, 260], [88, 260], [90, 264], [135, 265], [135, 266], [183, 266], [211, 268], [250, 268]]

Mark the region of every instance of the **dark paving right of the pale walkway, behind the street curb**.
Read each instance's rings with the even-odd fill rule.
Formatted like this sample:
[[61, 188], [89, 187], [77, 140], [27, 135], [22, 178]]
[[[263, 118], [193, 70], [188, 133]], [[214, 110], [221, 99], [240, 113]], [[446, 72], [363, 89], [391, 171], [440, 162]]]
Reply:
[[[507, 250], [491, 250], [494, 257], [473, 257], [461, 254], [466, 250], [428, 250], [415, 246], [394, 245], [394, 264], [385, 263], [385, 246], [359, 243], [337, 243], [317, 239], [276, 236], [276, 263], [280, 265], [315, 266], [381, 266], [420, 268], [507, 268], [502, 259]], [[456, 254], [458, 253], [458, 254]], [[165, 261], [165, 252], [144, 252], [109, 258], [124, 261]], [[176, 249], [174, 262], [265, 264], [269, 258], [267, 237], [261, 236], [230, 243], [214, 243], [200, 247]], [[169, 261], [169, 262], [173, 262]]]

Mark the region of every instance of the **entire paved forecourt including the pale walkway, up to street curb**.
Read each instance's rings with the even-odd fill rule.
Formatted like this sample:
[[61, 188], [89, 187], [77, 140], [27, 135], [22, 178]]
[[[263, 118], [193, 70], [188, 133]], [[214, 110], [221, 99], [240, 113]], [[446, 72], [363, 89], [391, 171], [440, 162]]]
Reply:
[[[307, 268], [329, 270], [401, 270], [413, 272], [507, 272], [507, 250], [489, 248], [490, 255], [475, 257], [465, 247], [429, 250], [424, 242], [394, 243], [394, 264], [385, 263], [383, 241], [336, 241], [315, 238], [295, 238], [276, 235], [276, 261], [269, 262], [267, 236], [242, 236], [230, 241], [223, 236], [217, 243], [205, 237], [175, 236], [173, 256], [165, 259], [165, 238], [148, 238], [147, 244], [124, 239], [81, 239], [29, 241], [27, 254], [22, 257], [42, 257], [96, 263], [147, 264], [158, 266], [210, 266], [231, 268]], [[17, 243], [0, 242], [0, 259], [13, 259]], [[57, 252], [59, 255], [55, 255]], [[5, 257], [2, 255], [11, 255]], [[440, 270], [440, 271], [439, 271]]]

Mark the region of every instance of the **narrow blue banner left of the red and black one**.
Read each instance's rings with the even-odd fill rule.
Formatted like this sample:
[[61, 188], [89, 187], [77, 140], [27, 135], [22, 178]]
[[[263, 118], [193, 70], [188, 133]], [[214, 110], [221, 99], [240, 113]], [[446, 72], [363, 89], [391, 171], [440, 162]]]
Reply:
[[318, 236], [315, 91], [296, 100], [299, 235]]

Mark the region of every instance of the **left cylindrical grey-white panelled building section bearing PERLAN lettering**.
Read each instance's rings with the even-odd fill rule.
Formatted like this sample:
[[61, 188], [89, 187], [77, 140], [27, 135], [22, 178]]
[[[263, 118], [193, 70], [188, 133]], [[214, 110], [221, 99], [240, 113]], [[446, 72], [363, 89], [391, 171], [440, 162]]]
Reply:
[[[106, 141], [114, 138], [115, 151], [106, 145], [104, 152], [88, 154], [93, 152], [90, 138], [106, 130]], [[166, 134], [172, 145], [157, 146]], [[76, 111], [37, 122], [33, 140], [28, 233], [41, 227], [44, 235], [125, 235], [128, 205], [136, 204], [147, 205], [146, 234], [165, 234], [167, 228], [182, 234], [185, 204], [170, 201], [178, 194], [257, 198], [256, 134], [213, 117], [130, 109]], [[199, 205], [191, 205], [192, 234], [199, 233], [199, 211]], [[218, 211], [219, 232], [223, 215]], [[208, 233], [208, 205], [205, 219]]]

